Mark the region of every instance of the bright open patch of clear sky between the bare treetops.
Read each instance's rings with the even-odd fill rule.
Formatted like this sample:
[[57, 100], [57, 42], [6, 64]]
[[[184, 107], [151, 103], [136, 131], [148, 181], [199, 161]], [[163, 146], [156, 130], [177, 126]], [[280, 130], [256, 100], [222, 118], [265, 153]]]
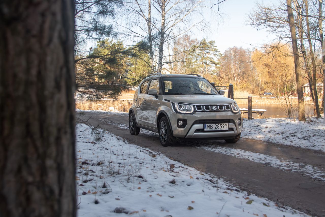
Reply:
[[[222, 20], [215, 21], [211, 19], [209, 21], [211, 23], [211, 32], [202, 34], [202, 32], [194, 30], [194, 36], [200, 39], [205, 37], [208, 40], [214, 40], [217, 48], [222, 53], [229, 47], [253, 48], [275, 39], [276, 36], [266, 32], [266, 30], [257, 31], [252, 26], [245, 24], [249, 12], [253, 10], [257, 2], [269, 5], [276, 4], [279, 1], [226, 0], [219, 7], [220, 13], [223, 14]], [[214, 6], [214, 8], [217, 8], [217, 6]]]

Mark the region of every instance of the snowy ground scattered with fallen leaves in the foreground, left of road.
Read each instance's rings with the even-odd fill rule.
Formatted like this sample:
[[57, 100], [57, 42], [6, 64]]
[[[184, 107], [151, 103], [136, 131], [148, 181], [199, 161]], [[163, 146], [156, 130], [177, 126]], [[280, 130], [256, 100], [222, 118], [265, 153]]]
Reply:
[[109, 132], [76, 133], [79, 217], [307, 216]]

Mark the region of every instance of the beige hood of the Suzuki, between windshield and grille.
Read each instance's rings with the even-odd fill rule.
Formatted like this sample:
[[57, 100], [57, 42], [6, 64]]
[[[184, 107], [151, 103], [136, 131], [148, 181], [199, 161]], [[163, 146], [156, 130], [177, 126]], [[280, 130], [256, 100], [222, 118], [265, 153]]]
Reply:
[[189, 103], [189, 104], [231, 104], [236, 102], [233, 99], [221, 95], [165, 95], [165, 99], [170, 102]]

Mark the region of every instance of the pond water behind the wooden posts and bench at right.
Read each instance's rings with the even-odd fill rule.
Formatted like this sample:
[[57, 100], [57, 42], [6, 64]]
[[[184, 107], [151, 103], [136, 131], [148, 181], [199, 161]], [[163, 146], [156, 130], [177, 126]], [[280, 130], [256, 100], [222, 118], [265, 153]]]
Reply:
[[[247, 108], [247, 104], [238, 104], [239, 108]], [[253, 109], [267, 109], [263, 114], [266, 118], [286, 118], [287, 115], [284, 108], [281, 105], [270, 105], [270, 104], [256, 104], [252, 106]], [[295, 117], [298, 116], [298, 109], [294, 108], [293, 114]], [[313, 116], [313, 105], [305, 104], [305, 115]], [[257, 118], [257, 114], [252, 114], [253, 118]], [[247, 113], [243, 114], [243, 117], [247, 118]]]

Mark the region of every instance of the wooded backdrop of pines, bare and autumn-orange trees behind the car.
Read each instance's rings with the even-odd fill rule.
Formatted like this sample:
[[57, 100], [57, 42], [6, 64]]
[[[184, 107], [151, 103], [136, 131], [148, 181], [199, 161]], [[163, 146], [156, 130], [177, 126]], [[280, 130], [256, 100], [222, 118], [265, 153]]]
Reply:
[[[245, 23], [269, 32], [273, 38], [253, 48], [233, 46], [220, 52], [214, 40], [197, 38], [194, 33], [208, 32], [211, 20], [223, 17], [220, 5], [225, 2], [76, 0], [76, 96], [117, 98], [151, 73], [195, 73], [216, 86], [232, 83], [235, 90], [251, 94], [298, 94], [299, 105], [303, 101], [299, 90], [307, 84], [304, 95], [312, 98], [314, 113], [320, 117], [324, 79], [323, 1], [255, 3], [247, 11]], [[293, 15], [299, 72], [288, 8]], [[94, 41], [96, 45], [89, 48]], [[297, 75], [301, 77], [298, 86]]]

